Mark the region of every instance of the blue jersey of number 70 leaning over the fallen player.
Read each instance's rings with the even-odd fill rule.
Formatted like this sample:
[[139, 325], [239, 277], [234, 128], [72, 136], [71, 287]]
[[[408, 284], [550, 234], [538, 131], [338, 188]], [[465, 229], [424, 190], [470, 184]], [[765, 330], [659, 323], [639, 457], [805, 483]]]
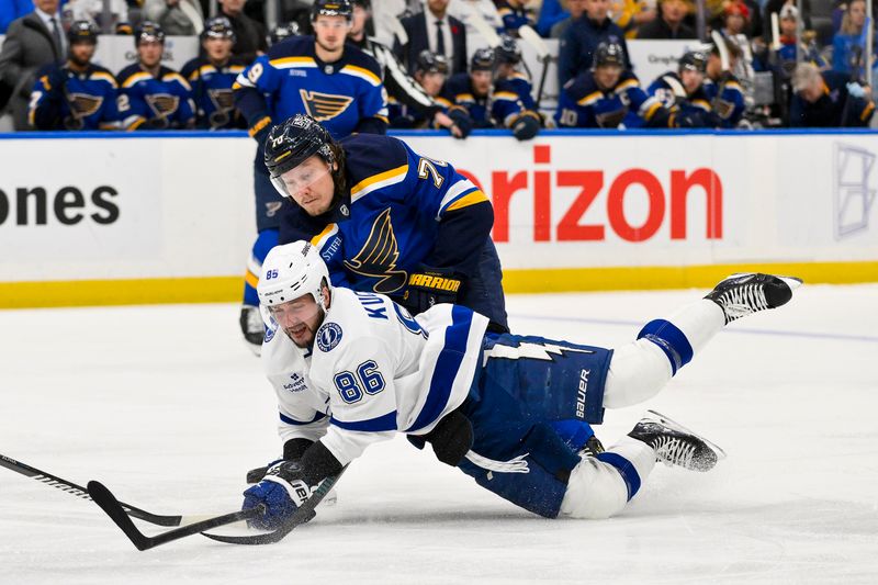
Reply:
[[472, 181], [389, 136], [354, 134], [339, 144], [345, 192], [315, 217], [284, 205], [281, 244], [311, 240], [334, 284], [394, 299], [423, 265], [479, 272], [494, 213]]

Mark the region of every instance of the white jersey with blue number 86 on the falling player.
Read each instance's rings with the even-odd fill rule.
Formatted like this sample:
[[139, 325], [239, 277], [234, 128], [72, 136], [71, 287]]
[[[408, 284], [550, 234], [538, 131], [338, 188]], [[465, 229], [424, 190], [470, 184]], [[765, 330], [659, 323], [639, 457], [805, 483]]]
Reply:
[[322, 440], [341, 464], [394, 432], [425, 435], [463, 403], [488, 319], [457, 305], [412, 317], [376, 293], [333, 289], [313, 349], [267, 336], [280, 436]]

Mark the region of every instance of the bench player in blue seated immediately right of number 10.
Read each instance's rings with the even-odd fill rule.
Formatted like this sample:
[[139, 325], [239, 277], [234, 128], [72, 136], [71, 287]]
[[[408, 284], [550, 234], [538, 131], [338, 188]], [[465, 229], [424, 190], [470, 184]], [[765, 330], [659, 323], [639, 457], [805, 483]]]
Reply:
[[676, 125], [686, 127], [719, 127], [722, 121], [713, 113], [705, 91], [707, 54], [689, 50], [677, 63], [676, 71], [661, 75], [646, 93], [676, 114]]

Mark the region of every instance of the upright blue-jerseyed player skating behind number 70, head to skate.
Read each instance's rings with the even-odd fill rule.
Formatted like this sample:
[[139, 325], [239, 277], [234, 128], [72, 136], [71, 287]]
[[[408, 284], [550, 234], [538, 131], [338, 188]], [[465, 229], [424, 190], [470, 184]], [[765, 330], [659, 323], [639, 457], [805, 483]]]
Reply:
[[258, 148], [254, 160], [256, 228], [259, 235], [247, 265], [240, 326], [254, 349], [262, 340], [256, 281], [262, 259], [278, 243], [278, 212], [283, 200], [271, 187], [263, 161], [272, 121], [307, 114], [341, 138], [353, 132], [384, 134], [387, 100], [381, 68], [369, 55], [346, 44], [351, 29], [350, 0], [315, 0], [311, 12], [314, 36], [294, 36], [273, 45], [240, 76], [235, 104], [247, 120]]

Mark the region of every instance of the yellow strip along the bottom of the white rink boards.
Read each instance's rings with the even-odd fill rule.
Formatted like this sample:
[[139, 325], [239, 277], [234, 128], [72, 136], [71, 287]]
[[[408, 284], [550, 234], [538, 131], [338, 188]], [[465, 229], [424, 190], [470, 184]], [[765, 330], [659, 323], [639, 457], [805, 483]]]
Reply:
[[[878, 282], [876, 262], [785, 262], [688, 267], [505, 270], [507, 294], [711, 289], [733, 272], [795, 275], [810, 284]], [[0, 282], [0, 308], [239, 302], [241, 277]]]

